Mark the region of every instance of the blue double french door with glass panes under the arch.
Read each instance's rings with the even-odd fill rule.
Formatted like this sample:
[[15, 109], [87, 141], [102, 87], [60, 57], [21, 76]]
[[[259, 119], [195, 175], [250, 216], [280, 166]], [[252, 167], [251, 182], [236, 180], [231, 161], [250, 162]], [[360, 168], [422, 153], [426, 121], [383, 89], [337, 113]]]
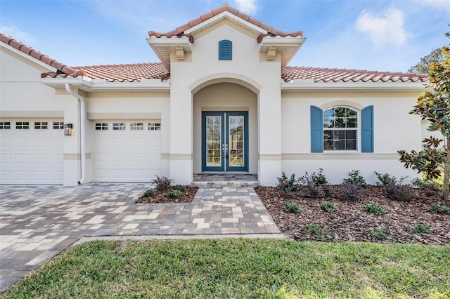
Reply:
[[202, 112], [202, 171], [248, 171], [248, 112]]

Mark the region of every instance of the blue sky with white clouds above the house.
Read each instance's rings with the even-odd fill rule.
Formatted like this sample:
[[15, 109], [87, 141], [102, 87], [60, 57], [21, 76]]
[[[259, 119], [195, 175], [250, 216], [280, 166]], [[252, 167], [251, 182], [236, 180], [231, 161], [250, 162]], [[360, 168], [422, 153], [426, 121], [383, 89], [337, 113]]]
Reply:
[[228, 3], [307, 41], [290, 65], [406, 72], [449, 44], [449, 0], [0, 0], [0, 30], [70, 66], [159, 62], [167, 32]]

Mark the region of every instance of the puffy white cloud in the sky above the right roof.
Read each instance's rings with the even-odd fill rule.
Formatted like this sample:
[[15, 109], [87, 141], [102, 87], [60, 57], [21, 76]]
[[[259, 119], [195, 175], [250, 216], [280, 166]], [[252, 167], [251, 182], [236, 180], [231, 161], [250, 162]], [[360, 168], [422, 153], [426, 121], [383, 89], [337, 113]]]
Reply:
[[378, 48], [401, 46], [409, 38], [409, 33], [404, 29], [403, 13], [395, 8], [388, 9], [382, 18], [372, 15], [370, 11], [361, 11], [355, 29], [368, 34], [372, 44]]

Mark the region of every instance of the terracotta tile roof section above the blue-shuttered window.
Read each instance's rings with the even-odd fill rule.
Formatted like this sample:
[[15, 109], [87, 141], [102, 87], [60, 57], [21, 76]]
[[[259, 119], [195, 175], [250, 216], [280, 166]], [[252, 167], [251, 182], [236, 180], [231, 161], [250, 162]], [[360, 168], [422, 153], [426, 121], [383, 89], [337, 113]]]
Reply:
[[314, 82], [426, 82], [428, 74], [376, 72], [356, 69], [328, 69], [319, 67], [285, 67], [281, 72], [285, 81], [313, 79]]

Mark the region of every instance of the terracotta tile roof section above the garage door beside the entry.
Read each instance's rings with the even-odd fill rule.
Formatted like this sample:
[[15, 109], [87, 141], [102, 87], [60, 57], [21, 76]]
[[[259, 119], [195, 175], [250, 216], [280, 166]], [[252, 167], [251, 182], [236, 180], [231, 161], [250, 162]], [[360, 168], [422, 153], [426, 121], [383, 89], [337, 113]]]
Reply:
[[[170, 73], [162, 63], [135, 63], [131, 65], [91, 65], [86, 67], [75, 67], [79, 73], [91, 79], [105, 79], [110, 82], [119, 81], [141, 81], [141, 79], [161, 79], [170, 78]], [[58, 74], [48, 72], [41, 74], [45, 77], [77, 77], [71, 74]]]

